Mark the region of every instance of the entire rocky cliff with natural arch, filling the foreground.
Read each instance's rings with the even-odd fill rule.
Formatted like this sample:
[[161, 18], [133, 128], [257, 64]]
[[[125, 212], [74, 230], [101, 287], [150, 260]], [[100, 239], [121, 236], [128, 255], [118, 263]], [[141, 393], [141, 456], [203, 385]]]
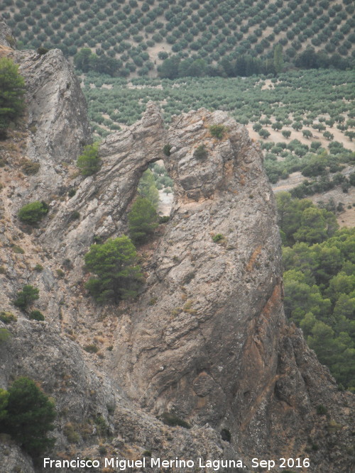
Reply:
[[[100, 171], [81, 177], [75, 160], [90, 133], [75, 75], [59, 50], [10, 46], [1, 54], [20, 65], [27, 108], [0, 143], [0, 301], [17, 317], [0, 322], [12, 334], [0, 345], [0, 387], [26, 375], [55, 399], [51, 457], [241, 458], [244, 472], [256, 471], [253, 457], [310, 457], [308, 471], [349, 472], [354, 396], [338, 391], [285, 321], [273, 193], [246, 129], [204, 109], [166, 129], [150, 103], [141, 121], [103, 140]], [[216, 124], [222, 139], [211, 133]], [[95, 235], [126, 232], [141, 174], [160, 159], [175, 199], [168, 223], [140, 250], [146, 284], [134, 301], [94, 304], [84, 254]], [[39, 164], [36, 174], [23, 172], [28, 161]], [[35, 199], [50, 212], [29, 231], [16, 214]], [[40, 289], [44, 322], [14, 308], [24, 284]], [[192, 428], [165, 425], [167, 412]], [[1, 442], [4, 472], [41, 471], [9, 438]]]

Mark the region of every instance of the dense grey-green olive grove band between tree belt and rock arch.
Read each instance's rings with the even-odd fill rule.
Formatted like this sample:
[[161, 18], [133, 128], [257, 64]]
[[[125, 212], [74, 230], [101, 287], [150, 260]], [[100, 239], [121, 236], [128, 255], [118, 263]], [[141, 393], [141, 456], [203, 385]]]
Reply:
[[[267, 77], [271, 79], [271, 88], [265, 87]], [[180, 80], [186, 87], [175, 87]], [[162, 103], [166, 121], [173, 114], [190, 108], [206, 107], [229, 111], [239, 123], [260, 123], [261, 128], [266, 128], [266, 131], [273, 123], [273, 117], [273, 121], [279, 122], [274, 126], [282, 124], [284, 128], [291, 126], [295, 130], [311, 129], [312, 132], [313, 125], [332, 127], [335, 123], [337, 126], [347, 127], [343, 133], [351, 132], [351, 128], [354, 128], [354, 123], [351, 122], [354, 118], [351, 104], [342, 100], [343, 97], [350, 99], [353, 94], [351, 72], [348, 71], [339, 74], [332, 70], [324, 72], [310, 69], [286, 72], [278, 78], [261, 76], [229, 81], [218, 77], [202, 77], [198, 81], [183, 78], [178, 79], [176, 84], [168, 79], [141, 78], [132, 81], [143, 87], [126, 88], [124, 79], [103, 78], [92, 73], [88, 75], [84, 81], [84, 94], [88, 99], [90, 116], [94, 121], [97, 120], [98, 125], [110, 127], [112, 123], [134, 123], [141, 117], [147, 101], [153, 100]], [[90, 88], [90, 83], [97, 87]], [[104, 83], [110, 84], [112, 88], [101, 89]], [[122, 87], [124, 94], [121, 93]], [[302, 94], [305, 87], [309, 94]], [[110, 116], [111, 122], [104, 122], [107, 118], [102, 117], [102, 111]], [[325, 116], [323, 119], [323, 114], [329, 114], [330, 117]], [[291, 129], [291, 133], [292, 131]], [[349, 141], [351, 133], [348, 138], [346, 136], [344, 140]]]

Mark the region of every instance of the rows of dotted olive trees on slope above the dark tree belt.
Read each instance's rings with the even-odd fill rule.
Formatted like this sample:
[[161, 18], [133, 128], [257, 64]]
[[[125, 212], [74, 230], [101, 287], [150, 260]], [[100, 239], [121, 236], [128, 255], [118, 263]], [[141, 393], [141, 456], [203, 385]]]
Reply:
[[[287, 46], [287, 62], [302, 63], [302, 57], [296, 56], [305, 50], [309, 40], [327, 54], [337, 52], [338, 56], [349, 57], [355, 40], [351, 18], [354, 6], [350, 4], [340, 10], [340, 4], [328, 9], [305, 4], [292, 8], [285, 2], [266, 5], [261, 1], [255, 5], [244, 1], [228, 6], [226, 2], [202, 5], [194, 1], [185, 5], [143, 2], [136, 6], [113, 2], [105, 6], [100, 0], [85, 9], [80, 5], [66, 3], [59, 9], [58, 5], [49, 4], [36, 8], [33, 3], [31, 8], [23, 5], [18, 11], [7, 6], [4, 16], [26, 46], [58, 47], [68, 55], [77, 54], [80, 48], [96, 48], [96, 55], [124, 63], [119, 67], [119, 74], [124, 77], [136, 70], [138, 74], [148, 74], [154, 65], [141, 53], [165, 41], [174, 53], [204, 60], [212, 67], [224, 57], [229, 60], [234, 53], [272, 59], [277, 44]], [[268, 27], [273, 32], [265, 37], [263, 31]], [[321, 67], [330, 64], [329, 58], [324, 61], [324, 55], [312, 63], [318, 67], [320, 63]], [[331, 64], [346, 67], [349, 60], [338, 57]]]

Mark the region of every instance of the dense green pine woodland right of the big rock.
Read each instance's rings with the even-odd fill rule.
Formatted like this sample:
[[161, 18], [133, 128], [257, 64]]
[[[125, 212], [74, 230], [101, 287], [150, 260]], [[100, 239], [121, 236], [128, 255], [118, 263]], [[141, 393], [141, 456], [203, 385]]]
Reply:
[[276, 195], [283, 238], [285, 313], [339, 385], [355, 391], [355, 228], [334, 213]]

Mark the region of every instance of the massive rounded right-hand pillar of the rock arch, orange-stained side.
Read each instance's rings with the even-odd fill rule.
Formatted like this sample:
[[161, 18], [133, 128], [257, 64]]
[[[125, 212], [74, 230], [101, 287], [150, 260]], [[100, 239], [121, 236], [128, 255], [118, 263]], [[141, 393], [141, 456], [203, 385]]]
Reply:
[[[221, 140], [214, 124], [226, 130]], [[146, 294], [117, 334], [115, 374], [157, 413], [220, 425], [241, 412], [241, 392], [261, 395], [277, 367], [284, 318], [273, 194], [258, 145], [226, 113], [179, 116], [164, 139], [175, 202]]]

